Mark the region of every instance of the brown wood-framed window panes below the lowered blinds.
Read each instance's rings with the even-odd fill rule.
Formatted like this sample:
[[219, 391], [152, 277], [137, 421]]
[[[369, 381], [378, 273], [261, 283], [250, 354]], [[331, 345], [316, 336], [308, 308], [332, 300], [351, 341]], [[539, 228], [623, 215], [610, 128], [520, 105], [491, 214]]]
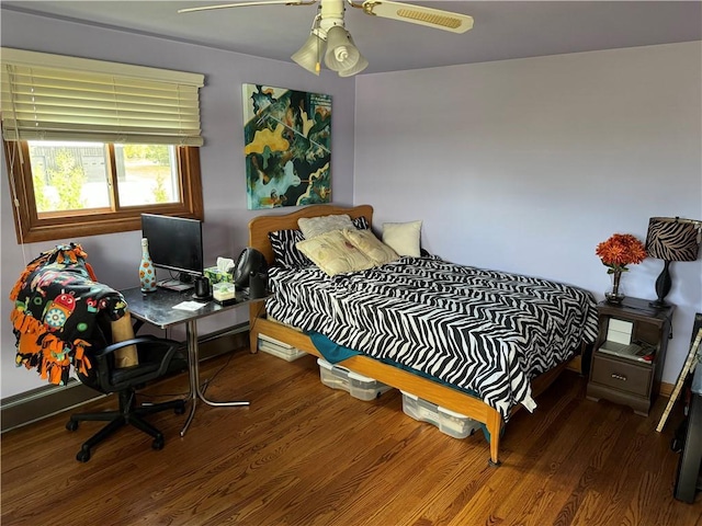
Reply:
[[203, 219], [199, 149], [158, 145], [161, 160], [131, 153], [154, 148], [5, 141], [18, 242], [138, 230], [144, 211]]

